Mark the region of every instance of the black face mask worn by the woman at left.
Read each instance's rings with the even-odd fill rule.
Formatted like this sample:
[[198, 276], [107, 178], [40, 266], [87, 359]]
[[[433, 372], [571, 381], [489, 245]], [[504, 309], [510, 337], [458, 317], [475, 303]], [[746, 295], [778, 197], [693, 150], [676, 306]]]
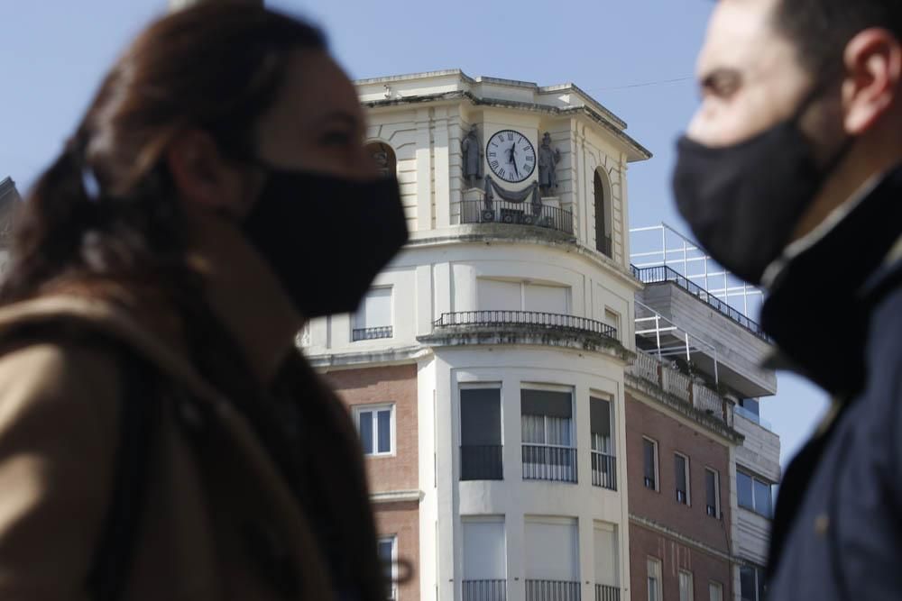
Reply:
[[397, 179], [262, 168], [245, 235], [304, 317], [354, 311], [408, 239]]

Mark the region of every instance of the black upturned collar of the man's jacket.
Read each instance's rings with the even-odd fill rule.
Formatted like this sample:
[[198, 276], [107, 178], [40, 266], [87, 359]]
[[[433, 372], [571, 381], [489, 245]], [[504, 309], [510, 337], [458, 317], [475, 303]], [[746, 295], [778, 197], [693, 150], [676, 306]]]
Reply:
[[862, 189], [824, 225], [787, 248], [771, 277], [761, 324], [797, 371], [835, 396], [858, 392], [873, 293], [897, 266], [902, 167]]

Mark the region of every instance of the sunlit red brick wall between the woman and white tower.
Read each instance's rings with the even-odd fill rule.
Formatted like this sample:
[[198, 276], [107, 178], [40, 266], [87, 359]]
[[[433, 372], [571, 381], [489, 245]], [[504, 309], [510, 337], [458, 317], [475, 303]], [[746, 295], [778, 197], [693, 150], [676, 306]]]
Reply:
[[[367, 457], [366, 471], [373, 493], [419, 491], [417, 430], [417, 366], [398, 365], [343, 369], [327, 374], [342, 400], [357, 405], [394, 405], [395, 440], [391, 455]], [[381, 536], [398, 537], [399, 576], [410, 576], [398, 587], [399, 601], [419, 599], [419, 500], [373, 505]], [[412, 574], [405, 569], [412, 567]]]

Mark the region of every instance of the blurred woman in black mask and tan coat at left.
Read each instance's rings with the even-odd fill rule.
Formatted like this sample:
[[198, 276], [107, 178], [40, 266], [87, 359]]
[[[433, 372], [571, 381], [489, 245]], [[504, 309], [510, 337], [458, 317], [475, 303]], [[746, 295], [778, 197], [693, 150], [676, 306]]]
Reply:
[[262, 7], [118, 60], [0, 289], [0, 597], [384, 598], [353, 424], [294, 345], [406, 241], [363, 140], [321, 34]]

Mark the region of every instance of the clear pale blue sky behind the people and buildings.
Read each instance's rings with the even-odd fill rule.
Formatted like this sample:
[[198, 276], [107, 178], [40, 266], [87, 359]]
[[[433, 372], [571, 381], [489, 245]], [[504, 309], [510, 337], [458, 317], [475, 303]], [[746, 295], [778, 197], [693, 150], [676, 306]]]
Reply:
[[[462, 68], [471, 76], [571, 81], [629, 123], [655, 157], [630, 167], [630, 223], [687, 232], [669, 190], [673, 141], [697, 103], [691, 79], [712, 0], [437, 3], [272, 0], [322, 25], [352, 77]], [[0, 3], [0, 178], [25, 189], [60, 150], [99, 78], [165, 0]], [[651, 84], [651, 85], [648, 85]], [[755, 317], [752, 315], [752, 317]], [[763, 417], [784, 463], [825, 406], [781, 374]]]

